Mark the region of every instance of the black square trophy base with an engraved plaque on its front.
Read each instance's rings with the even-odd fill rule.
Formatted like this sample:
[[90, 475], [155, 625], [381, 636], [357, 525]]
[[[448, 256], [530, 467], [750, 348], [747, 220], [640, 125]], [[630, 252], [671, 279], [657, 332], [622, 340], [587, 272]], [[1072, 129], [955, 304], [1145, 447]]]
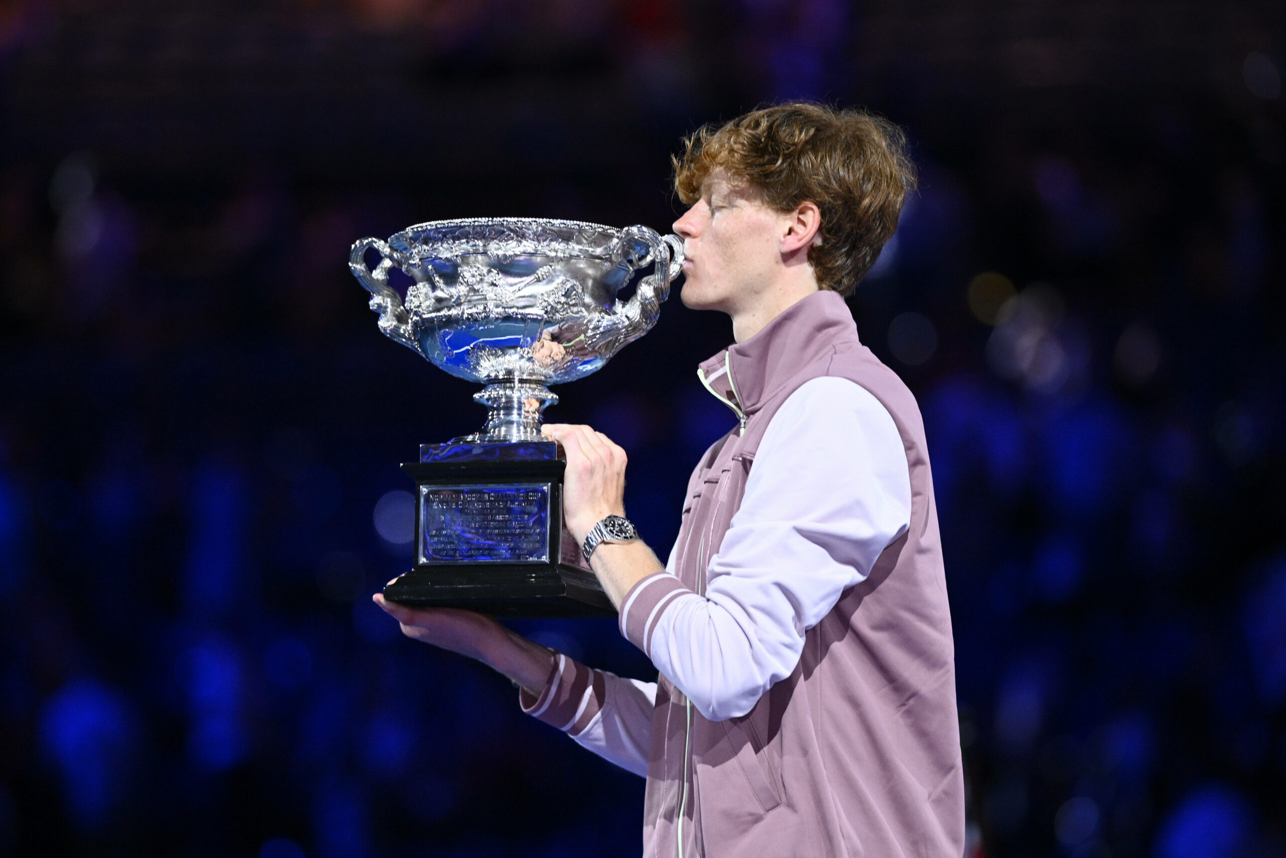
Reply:
[[553, 441], [457, 439], [403, 466], [415, 480], [415, 566], [385, 588], [408, 607], [495, 616], [613, 616], [562, 522]]

